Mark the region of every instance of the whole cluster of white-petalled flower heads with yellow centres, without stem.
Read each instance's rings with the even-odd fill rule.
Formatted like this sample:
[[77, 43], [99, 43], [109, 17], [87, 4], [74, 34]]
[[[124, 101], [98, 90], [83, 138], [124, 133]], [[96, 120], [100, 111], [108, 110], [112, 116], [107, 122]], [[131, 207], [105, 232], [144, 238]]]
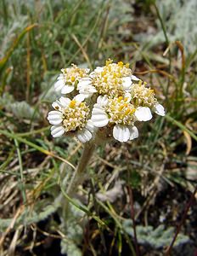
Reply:
[[87, 143], [105, 127], [106, 133], [123, 143], [138, 137], [135, 124], [152, 119], [151, 112], [165, 115], [154, 90], [121, 61], [106, 61], [92, 73], [76, 65], [61, 71], [54, 90], [62, 96], [48, 113], [53, 137], [74, 134]]

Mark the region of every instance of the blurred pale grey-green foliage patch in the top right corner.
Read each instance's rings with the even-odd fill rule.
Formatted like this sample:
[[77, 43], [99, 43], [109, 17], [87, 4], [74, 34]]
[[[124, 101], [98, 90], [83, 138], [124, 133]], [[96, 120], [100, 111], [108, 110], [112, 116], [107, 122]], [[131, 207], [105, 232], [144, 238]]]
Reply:
[[[197, 2], [195, 0], [157, 0], [155, 3], [166, 26], [169, 41], [181, 41], [186, 54], [193, 54], [197, 45], [197, 20], [194, 19]], [[149, 47], [166, 42], [159, 20], [157, 20], [157, 26], [159, 29], [154, 36], [147, 35], [145, 38], [137, 35], [138, 40], [141, 38], [144, 42], [149, 41]]]

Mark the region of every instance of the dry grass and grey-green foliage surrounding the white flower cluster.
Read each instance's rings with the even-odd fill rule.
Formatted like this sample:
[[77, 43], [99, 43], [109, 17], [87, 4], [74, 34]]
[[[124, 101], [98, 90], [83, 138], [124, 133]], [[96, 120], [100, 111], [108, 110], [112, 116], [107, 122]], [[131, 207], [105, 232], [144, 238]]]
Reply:
[[[194, 255], [196, 11], [195, 0], [0, 1], [2, 256]], [[62, 67], [109, 57], [131, 63], [167, 114], [98, 148], [65, 224], [61, 180], [82, 144], [49, 133], [53, 84]]]

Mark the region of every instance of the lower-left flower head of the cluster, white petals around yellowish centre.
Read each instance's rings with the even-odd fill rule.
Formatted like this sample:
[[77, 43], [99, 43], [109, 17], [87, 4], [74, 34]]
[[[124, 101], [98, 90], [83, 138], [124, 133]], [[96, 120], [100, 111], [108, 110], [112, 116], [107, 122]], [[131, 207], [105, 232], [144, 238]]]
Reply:
[[48, 121], [51, 125], [51, 134], [53, 137], [60, 137], [65, 132], [76, 131], [76, 137], [85, 143], [92, 138], [94, 126], [91, 120], [88, 120], [90, 109], [83, 97], [77, 95], [73, 100], [60, 97], [58, 101], [53, 102], [55, 110], [48, 113]]

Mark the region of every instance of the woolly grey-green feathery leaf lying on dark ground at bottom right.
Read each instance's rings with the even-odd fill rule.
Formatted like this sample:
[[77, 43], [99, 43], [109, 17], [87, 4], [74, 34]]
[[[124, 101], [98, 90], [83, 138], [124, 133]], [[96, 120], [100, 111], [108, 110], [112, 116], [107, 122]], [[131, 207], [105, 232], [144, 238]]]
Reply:
[[[122, 226], [128, 235], [132, 237], [134, 236], [131, 219], [123, 221]], [[162, 224], [160, 224], [156, 229], [150, 225], [137, 225], [136, 232], [139, 243], [149, 244], [155, 248], [169, 246], [172, 241], [172, 237], [174, 236], [174, 229], [172, 227], [165, 229], [165, 226]], [[189, 236], [184, 236], [182, 233], [179, 233], [175, 242], [175, 246], [178, 246], [187, 241], [189, 241]]]

